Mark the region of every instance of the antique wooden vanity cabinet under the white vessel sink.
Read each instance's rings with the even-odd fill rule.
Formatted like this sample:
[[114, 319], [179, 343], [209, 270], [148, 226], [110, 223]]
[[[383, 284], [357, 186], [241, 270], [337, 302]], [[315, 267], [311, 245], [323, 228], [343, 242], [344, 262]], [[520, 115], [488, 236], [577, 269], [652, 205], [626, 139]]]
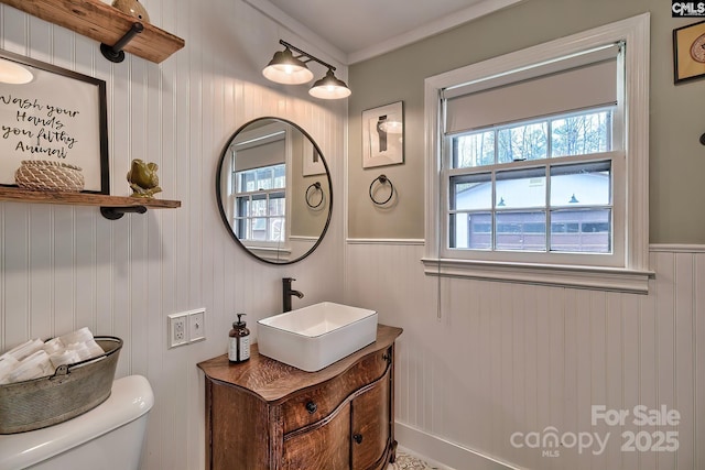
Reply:
[[259, 354], [198, 364], [206, 384], [206, 468], [383, 470], [395, 456], [394, 340], [377, 341], [318, 371]]

